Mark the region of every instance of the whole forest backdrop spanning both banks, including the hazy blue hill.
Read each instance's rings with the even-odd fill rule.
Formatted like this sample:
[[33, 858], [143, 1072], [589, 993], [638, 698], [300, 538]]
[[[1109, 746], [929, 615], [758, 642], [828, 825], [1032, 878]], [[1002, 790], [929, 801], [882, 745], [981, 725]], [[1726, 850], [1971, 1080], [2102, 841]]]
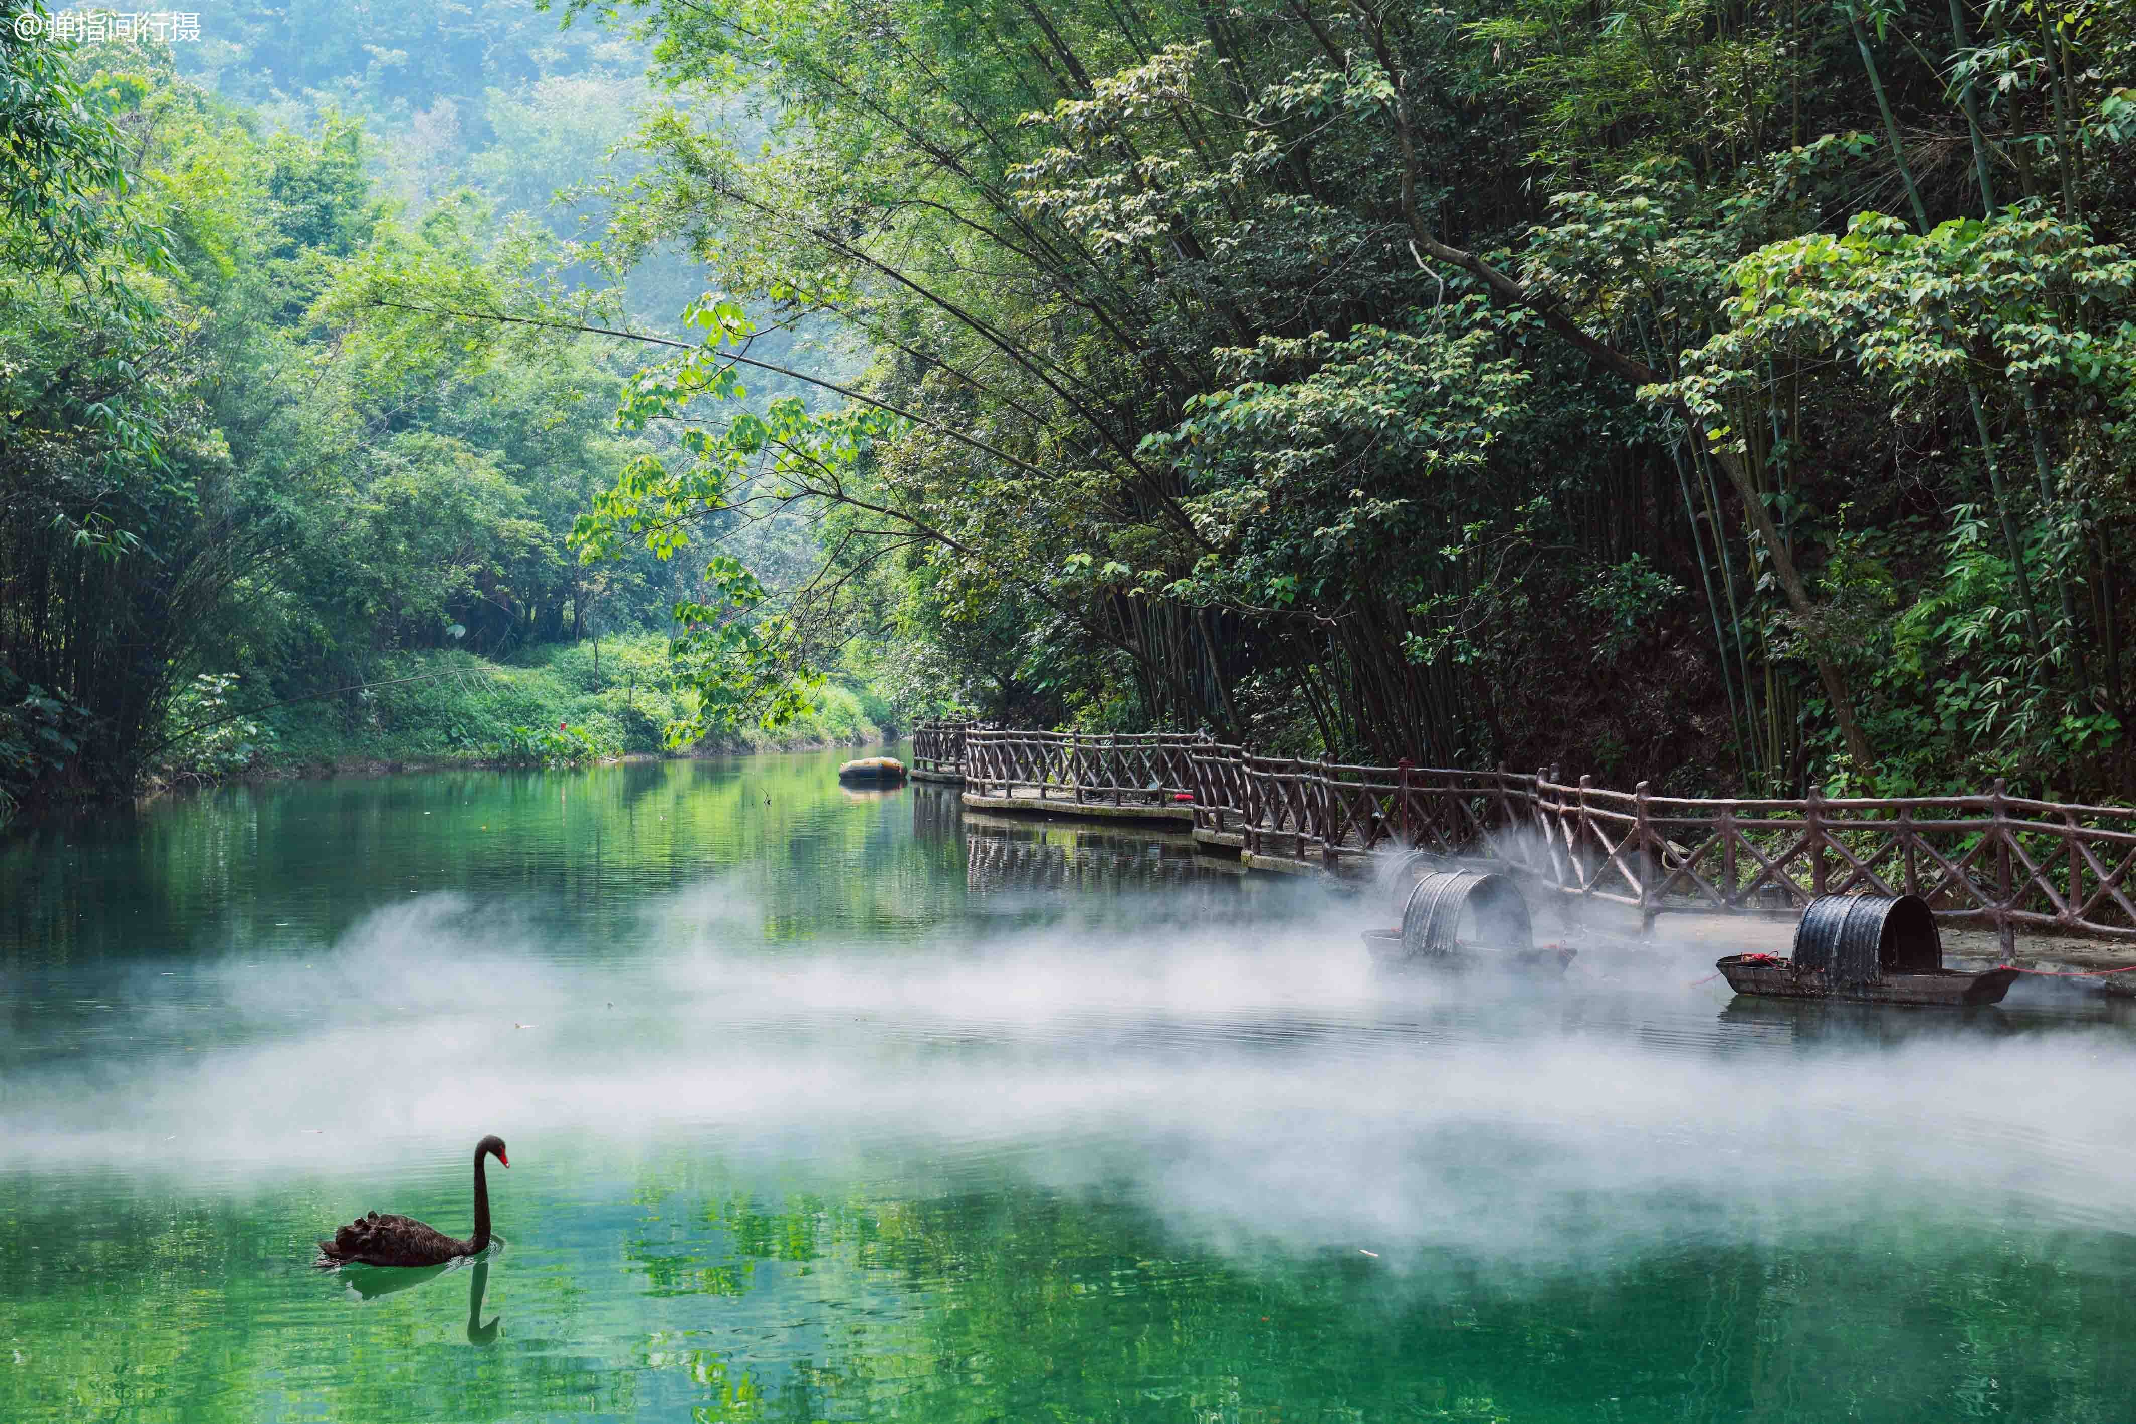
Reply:
[[130, 781], [201, 675], [639, 628], [684, 734], [835, 670], [2136, 794], [2130, 6], [201, 17], [0, 41], [17, 786]]

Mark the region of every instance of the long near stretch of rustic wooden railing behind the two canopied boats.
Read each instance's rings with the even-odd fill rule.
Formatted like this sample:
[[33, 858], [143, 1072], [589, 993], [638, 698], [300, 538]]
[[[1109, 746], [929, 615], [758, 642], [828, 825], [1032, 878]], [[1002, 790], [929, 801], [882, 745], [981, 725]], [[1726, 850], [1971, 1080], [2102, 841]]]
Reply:
[[[1786, 914], [1818, 895], [1918, 895], [1937, 918], [2136, 939], [2136, 811], [2010, 796], [1681, 798], [1549, 773], [1339, 766], [1241, 756], [1241, 848], [1320, 858], [1408, 850], [1506, 865], [1662, 914]], [[1213, 773], [1205, 781], [1213, 781]]]

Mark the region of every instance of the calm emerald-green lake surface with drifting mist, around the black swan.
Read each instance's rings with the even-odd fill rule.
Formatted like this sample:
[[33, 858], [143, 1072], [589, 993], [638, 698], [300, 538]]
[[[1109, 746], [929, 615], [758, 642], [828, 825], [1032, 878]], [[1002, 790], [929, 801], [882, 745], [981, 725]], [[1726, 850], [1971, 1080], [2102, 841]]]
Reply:
[[[2123, 1016], [1388, 982], [844, 756], [0, 839], [0, 1420], [2136, 1415]], [[485, 1132], [489, 1260], [312, 1268]]]

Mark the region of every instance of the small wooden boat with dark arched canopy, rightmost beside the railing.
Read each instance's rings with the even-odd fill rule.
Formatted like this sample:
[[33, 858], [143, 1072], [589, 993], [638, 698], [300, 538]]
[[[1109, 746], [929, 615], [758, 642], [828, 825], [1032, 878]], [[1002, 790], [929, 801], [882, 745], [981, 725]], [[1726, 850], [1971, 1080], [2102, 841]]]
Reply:
[[1730, 954], [1713, 965], [1739, 995], [1978, 1008], [2001, 1003], [2016, 969], [1944, 967], [1944, 937], [1918, 895], [1822, 895], [1794, 927], [1794, 954]]

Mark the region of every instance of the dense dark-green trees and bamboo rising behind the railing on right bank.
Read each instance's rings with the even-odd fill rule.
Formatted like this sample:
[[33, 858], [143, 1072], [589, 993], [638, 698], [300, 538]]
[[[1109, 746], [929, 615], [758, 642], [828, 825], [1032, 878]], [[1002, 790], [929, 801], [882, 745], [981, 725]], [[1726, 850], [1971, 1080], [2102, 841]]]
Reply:
[[590, 11], [675, 96], [619, 228], [880, 416], [726, 429], [716, 325], [604, 529], [842, 506], [788, 617], [880, 579], [1002, 717], [2127, 792], [2125, 6]]

